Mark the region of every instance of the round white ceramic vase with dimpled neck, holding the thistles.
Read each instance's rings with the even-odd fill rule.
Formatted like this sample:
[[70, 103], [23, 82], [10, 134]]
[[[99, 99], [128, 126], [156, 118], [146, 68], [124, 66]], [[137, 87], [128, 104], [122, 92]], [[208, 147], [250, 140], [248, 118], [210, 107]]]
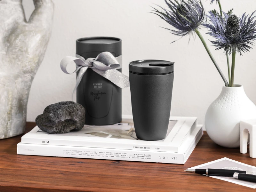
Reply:
[[223, 86], [205, 115], [205, 129], [218, 145], [236, 148], [240, 145], [240, 121], [256, 118], [256, 106], [247, 97], [243, 85]]

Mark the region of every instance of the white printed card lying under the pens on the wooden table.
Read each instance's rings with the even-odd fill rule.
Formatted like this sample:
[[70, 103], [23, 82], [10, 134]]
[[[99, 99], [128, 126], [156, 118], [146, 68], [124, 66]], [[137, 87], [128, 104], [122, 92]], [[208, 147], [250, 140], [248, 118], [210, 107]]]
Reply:
[[[211, 161], [205, 164], [197, 165], [195, 167], [191, 167], [189, 169], [235, 169], [235, 170], [242, 170], [242, 171], [256, 171], [256, 167], [244, 164], [232, 159], [229, 159], [227, 157]], [[219, 176], [209, 176], [213, 177], [216, 179], [228, 181], [231, 183], [236, 183], [238, 185], [242, 185], [245, 187], [250, 187], [250, 188], [256, 188], [256, 183], [249, 182], [249, 181], [243, 181], [243, 180], [237, 180], [233, 177], [219, 177]]]

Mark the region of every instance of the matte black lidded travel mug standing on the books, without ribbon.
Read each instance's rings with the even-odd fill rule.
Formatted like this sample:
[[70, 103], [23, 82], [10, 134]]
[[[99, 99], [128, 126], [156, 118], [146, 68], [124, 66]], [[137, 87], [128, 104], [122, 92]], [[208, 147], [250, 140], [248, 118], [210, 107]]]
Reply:
[[132, 116], [140, 140], [166, 137], [172, 102], [174, 63], [138, 60], [129, 63]]

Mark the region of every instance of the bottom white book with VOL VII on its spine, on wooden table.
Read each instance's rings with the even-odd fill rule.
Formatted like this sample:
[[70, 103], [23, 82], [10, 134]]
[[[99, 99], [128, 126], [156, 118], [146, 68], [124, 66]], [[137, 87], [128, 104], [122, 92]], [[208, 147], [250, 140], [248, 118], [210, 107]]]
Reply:
[[17, 144], [17, 154], [185, 164], [202, 135], [202, 125], [197, 125], [194, 131], [181, 144], [177, 153], [129, 149], [26, 144], [20, 142]]

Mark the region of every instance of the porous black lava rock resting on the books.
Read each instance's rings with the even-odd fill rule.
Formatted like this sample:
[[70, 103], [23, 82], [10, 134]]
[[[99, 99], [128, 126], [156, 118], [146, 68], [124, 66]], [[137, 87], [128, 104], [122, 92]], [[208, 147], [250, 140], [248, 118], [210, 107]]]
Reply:
[[48, 133], [79, 131], [85, 123], [85, 109], [73, 101], [63, 101], [47, 106], [36, 117], [37, 126]]

